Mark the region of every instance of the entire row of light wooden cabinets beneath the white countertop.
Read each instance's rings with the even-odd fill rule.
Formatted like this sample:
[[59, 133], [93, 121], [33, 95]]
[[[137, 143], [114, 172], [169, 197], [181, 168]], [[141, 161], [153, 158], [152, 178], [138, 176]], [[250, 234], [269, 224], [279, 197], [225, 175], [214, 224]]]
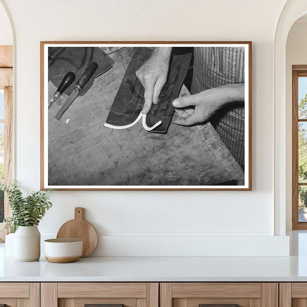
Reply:
[[0, 282], [1, 304], [7, 307], [94, 307], [97, 304], [107, 304], [99, 307], [209, 307], [201, 304], [306, 307], [307, 283]]

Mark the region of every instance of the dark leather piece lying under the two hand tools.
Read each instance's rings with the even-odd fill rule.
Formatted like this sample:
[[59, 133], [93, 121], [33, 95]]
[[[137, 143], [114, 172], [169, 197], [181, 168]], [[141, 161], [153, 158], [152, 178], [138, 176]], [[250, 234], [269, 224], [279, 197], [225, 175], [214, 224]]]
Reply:
[[48, 78], [58, 87], [67, 72], [74, 72], [75, 81], [64, 91], [69, 96], [91, 62], [96, 62], [98, 68], [91, 80], [79, 92], [79, 95], [84, 94], [91, 87], [92, 79], [112, 67], [114, 61], [99, 47], [49, 47]]

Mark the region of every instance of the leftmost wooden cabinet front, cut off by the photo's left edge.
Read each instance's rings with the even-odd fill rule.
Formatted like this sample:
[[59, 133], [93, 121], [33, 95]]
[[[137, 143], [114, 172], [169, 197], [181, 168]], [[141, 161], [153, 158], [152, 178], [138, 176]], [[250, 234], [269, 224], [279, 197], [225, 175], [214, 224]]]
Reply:
[[39, 307], [39, 282], [1, 282], [0, 305], [6, 307]]

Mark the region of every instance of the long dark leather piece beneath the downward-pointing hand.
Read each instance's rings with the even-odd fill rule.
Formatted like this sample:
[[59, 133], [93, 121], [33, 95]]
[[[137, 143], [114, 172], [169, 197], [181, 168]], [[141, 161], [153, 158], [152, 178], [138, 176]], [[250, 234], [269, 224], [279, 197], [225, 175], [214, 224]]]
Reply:
[[[144, 87], [135, 72], [150, 57], [152, 50], [148, 47], [139, 47], [134, 53], [111, 106], [106, 120], [107, 124], [126, 126], [138, 118], [144, 105]], [[149, 127], [159, 120], [162, 121], [162, 124], [151, 132], [166, 132], [174, 112], [172, 101], [178, 96], [190, 59], [191, 53], [171, 55], [168, 78], [161, 91], [158, 104], [152, 105], [146, 116], [146, 124]]]

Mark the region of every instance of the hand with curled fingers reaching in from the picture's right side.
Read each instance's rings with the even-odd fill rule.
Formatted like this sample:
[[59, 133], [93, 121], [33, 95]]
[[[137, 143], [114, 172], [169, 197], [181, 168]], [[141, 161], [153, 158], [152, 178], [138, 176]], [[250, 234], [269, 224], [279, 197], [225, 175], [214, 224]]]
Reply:
[[173, 101], [176, 111], [173, 122], [189, 126], [207, 121], [213, 113], [233, 101], [244, 101], [244, 83], [227, 84], [191, 96], [179, 97]]

